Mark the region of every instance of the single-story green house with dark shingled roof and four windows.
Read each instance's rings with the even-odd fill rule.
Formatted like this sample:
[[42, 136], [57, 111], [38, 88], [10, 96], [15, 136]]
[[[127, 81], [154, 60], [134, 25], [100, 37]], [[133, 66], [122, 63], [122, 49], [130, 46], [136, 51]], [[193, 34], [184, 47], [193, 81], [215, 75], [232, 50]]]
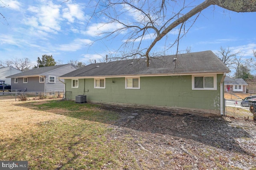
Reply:
[[230, 70], [212, 51], [93, 63], [59, 78], [66, 98], [108, 104], [186, 109], [223, 115], [224, 78]]

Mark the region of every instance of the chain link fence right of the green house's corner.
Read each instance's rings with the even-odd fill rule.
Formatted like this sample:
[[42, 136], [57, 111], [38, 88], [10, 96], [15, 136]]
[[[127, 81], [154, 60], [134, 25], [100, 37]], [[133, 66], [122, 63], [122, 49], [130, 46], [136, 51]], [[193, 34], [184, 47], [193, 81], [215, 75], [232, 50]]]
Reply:
[[225, 114], [228, 117], [235, 117], [245, 120], [253, 120], [253, 114], [250, 111], [250, 106], [256, 104], [244, 103], [237, 100], [225, 100]]

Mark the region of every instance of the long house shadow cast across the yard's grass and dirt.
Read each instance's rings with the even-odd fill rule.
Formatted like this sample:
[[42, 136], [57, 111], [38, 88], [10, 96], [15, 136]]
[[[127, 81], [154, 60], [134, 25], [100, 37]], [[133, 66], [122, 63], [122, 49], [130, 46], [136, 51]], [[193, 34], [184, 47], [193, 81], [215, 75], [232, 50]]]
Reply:
[[[237, 138], [252, 138], [250, 134], [243, 127], [231, 125], [221, 117], [200, 117], [190, 113], [177, 113], [177, 111], [104, 104], [76, 104], [74, 101], [62, 100], [53, 100], [43, 104], [40, 102], [22, 104], [22, 107], [47, 110], [76, 119], [108, 123], [142, 133], [188, 139], [219, 149], [252, 155], [242, 149], [236, 140]], [[169, 142], [172, 142], [171, 139]]]

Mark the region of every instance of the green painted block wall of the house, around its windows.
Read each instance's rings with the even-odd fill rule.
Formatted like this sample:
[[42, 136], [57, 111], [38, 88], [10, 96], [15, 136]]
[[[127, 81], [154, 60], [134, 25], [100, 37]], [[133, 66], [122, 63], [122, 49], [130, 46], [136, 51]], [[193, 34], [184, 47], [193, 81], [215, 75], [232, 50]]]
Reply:
[[88, 101], [220, 110], [222, 76], [217, 74], [217, 90], [192, 90], [191, 75], [140, 77], [138, 90], [125, 89], [125, 78], [106, 78], [105, 89], [95, 89], [93, 78], [79, 79], [79, 88], [71, 88], [71, 79], [65, 83], [72, 100], [86, 95]]

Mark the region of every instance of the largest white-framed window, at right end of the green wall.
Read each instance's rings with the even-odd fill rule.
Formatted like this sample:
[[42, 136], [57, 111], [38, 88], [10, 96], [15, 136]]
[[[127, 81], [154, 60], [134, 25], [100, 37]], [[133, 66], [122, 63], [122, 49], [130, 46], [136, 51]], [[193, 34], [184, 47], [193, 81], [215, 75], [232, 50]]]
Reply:
[[193, 75], [192, 90], [217, 90], [215, 75]]

